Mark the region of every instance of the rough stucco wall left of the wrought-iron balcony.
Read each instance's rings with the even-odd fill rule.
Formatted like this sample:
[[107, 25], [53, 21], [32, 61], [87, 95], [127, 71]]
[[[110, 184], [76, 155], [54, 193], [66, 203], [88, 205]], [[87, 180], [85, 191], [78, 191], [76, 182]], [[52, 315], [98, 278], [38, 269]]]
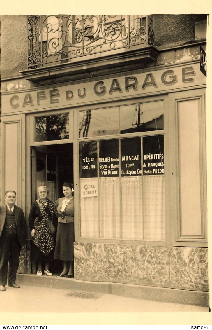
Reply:
[[1, 79], [21, 77], [27, 69], [27, 16], [0, 17], [1, 23]]

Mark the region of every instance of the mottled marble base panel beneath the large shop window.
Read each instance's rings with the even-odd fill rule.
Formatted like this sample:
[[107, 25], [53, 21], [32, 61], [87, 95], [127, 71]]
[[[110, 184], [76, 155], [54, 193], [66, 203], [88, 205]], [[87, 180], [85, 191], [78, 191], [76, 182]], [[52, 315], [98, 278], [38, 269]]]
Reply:
[[207, 248], [75, 242], [74, 278], [208, 291]]

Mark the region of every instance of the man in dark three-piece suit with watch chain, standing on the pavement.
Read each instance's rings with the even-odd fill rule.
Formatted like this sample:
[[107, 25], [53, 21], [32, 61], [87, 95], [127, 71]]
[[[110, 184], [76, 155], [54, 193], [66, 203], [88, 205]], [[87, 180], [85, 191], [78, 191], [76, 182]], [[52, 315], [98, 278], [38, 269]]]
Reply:
[[0, 291], [8, 286], [19, 288], [15, 283], [19, 264], [21, 246], [25, 245], [26, 221], [23, 210], [15, 205], [16, 192], [8, 190], [5, 193], [6, 205], [0, 213]]

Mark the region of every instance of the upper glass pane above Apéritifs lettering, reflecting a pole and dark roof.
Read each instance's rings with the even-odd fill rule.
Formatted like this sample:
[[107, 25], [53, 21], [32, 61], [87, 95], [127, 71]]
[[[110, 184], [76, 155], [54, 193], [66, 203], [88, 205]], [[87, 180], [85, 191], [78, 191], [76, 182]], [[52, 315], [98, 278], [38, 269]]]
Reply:
[[120, 133], [157, 131], [163, 125], [163, 101], [120, 107]]

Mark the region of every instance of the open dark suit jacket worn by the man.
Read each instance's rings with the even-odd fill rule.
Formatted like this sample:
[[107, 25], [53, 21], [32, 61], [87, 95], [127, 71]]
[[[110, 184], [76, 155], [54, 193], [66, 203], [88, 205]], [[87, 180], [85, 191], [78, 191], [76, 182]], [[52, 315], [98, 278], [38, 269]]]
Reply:
[[[0, 211], [1, 211], [0, 212], [0, 237], [1, 237], [2, 230], [5, 224], [5, 218], [6, 218], [6, 205], [2, 206]], [[26, 221], [25, 221], [24, 213], [23, 210], [16, 205], [14, 205], [14, 212], [15, 212], [15, 223], [16, 223], [18, 241], [20, 245], [23, 246], [25, 245], [25, 240], [26, 240]]]

